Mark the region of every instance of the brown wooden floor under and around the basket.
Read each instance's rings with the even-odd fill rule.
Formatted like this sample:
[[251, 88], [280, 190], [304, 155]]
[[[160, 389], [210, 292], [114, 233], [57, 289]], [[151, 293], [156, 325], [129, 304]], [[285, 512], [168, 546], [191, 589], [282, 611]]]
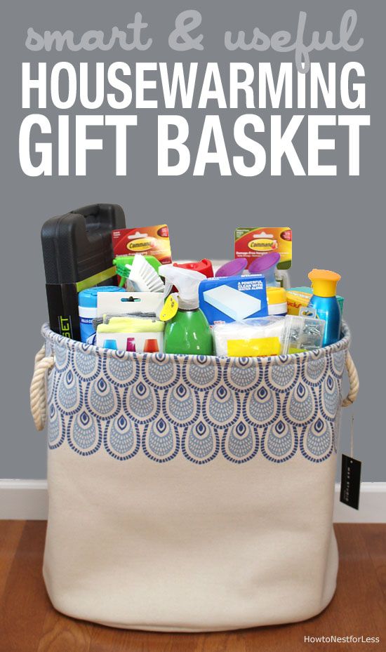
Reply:
[[[386, 525], [335, 526], [338, 589], [317, 618], [213, 634], [114, 630], [61, 616], [41, 578], [46, 523], [0, 521], [0, 652], [386, 651]], [[380, 637], [380, 644], [310, 644], [304, 637]]]

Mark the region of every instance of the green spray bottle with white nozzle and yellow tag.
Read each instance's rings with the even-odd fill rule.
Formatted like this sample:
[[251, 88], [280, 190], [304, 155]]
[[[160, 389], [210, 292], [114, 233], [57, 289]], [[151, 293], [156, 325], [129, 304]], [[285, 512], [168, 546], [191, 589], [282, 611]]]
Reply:
[[173, 265], [161, 265], [159, 275], [165, 278], [166, 295], [173, 286], [178, 290], [168, 296], [159, 315], [161, 321], [166, 321], [164, 352], [212, 355], [211, 326], [199, 309], [199, 284], [206, 276]]

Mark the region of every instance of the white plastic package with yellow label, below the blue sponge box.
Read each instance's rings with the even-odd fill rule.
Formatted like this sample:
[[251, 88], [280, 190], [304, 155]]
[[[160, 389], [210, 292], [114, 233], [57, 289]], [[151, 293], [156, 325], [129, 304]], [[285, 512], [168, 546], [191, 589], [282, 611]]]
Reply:
[[284, 317], [257, 317], [213, 326], [215, 354], [265, 357], [281, 353]]

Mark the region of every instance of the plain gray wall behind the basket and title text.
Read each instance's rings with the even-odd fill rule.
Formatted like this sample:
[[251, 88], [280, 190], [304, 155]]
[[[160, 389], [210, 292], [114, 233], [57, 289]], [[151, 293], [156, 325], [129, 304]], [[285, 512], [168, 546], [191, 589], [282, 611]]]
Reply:
[[[173, 17], [192, 6], [203, 13], [203, 53], [174, 53], [168, 48]], [[366, 113], [371, 127], [361, 136], [361, 175], [347, 175], [347, 138], [339, 137], [338, 176], [295, 178], [288, 169], [277, 178], [263, 173], [257, 178], [220, 178], [217, 169], [204, 178], [191, 172], [177, 178], [157, 177], [156, 111], [142, 111], [140, 126], [131, 132], [132, 156], [128, 178], [113, 173], [112, 149], [89, 155], [86, 178], [27, 178], [18, 163], [18, 130], [25, 113], [21, 109], [23, 60], [279, 60], [272, 53], [229, 54], [222, 38], [226, 29], [260, 25], [268, 34], [295, 29], [298, 12], [307, 8], [312, 29], [337, 29], [343, 11], [359, 12], [357, 34], [364, 36], [359, 53], [321, 53], [314, 60], [359, 60], [366, 69]], [[152, 26], [154, 44], [146, 53], [30, 53], [24, 41], [27, 27], [87, 29], [124, 27], [140, 9]], [[34, 431], [29, 415], [28, 390], [33, 357], [41, 346], [40, 326], [46, 320], [44, 270], [40, 228], [51, 215], [78, 206], [113, 202], [124, 206], [128, 224], [166, 221], [171, 229], [173, 253], [180, 258], [229, 258], [234, 227], [239, 225], [291, 225], [294, 237], [292, 280], [304, 284], [312, 267], [342, 273], [340, 293], [345, 296], [345, 318], [352, 329], [352, 354], [361, 377], [360, 398], [355, 407], [354, 453], [364, 463], [365, 480], [385, 480], [386, 438], [384, 425], [384, 322], [382, 283], [383, 247], [386, 241], [383, 204], [385, 196], [384, 112], [385, 57], [381, 49], [385, 4], [352, 0], [307, 3], [298, 0], [194, 1], [175, 0], [124, 3], [121, 0], [15, 0], [7, 6], [1, 25], [1, 456], [0, 477], [43, 478], [46, 474], [45, 435]], [[287, 60], [293, 60], [293, 54]], [[76, 113], [76, 110], [73, 111]], [[102, 112], [102, 111], [100, 111]], [[109, 112], [106, 109], [106, 112]], [[178, 111], [176, 111], [178, 112]], [[208, 112], [217, 112], [215, 107]], [[231, 138], [237, 111], [220, 112], [227, 139]], [[339, 110], [337, 109], [337, 113]], [[192, 130], [192, 150], [197, 147], [202, 113], [187, 112]], [[285, 113], [285, 112], [284, 112]], [[288, 110], [287, 113], [293, 113]], [[55, 111], [47, 111], [54, 117]], [[269, 111], [264, 112], [267, 119]], [[299, 139], [300, 149], [302, 138]], [[234, 153], [234, 152], [232, 152]], [[375, 289], [377, 293], [375, 294]], [[375, 310], [371, 310], [374, 308]], [[350, 414], [342, 420], [342, 445], [349, 446]]]

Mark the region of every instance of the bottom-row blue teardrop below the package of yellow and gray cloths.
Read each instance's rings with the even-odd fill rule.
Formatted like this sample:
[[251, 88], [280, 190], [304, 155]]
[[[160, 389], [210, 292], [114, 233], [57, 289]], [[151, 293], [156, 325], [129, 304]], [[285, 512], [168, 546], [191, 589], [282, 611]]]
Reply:
[[140, 449], [140, 434], [131, 420], [120, 413], [106, 425], [103, 444], [116, 460], [130, 460]]

